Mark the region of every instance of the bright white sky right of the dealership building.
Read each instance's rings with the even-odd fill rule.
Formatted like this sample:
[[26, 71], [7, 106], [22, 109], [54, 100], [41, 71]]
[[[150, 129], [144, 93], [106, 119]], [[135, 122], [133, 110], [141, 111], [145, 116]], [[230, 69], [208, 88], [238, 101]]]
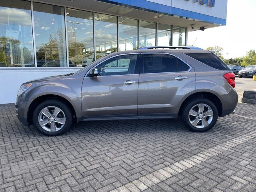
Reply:
[[203, 49], [223, 47], [224, 58], [227, 53], [228, 58], [235, 58], [246, 56], [250, 49], [256, 50], [256, 0], [228, 0], [226, 26], [189, 32], [188, 45], [195, 40], [194, 46]]

